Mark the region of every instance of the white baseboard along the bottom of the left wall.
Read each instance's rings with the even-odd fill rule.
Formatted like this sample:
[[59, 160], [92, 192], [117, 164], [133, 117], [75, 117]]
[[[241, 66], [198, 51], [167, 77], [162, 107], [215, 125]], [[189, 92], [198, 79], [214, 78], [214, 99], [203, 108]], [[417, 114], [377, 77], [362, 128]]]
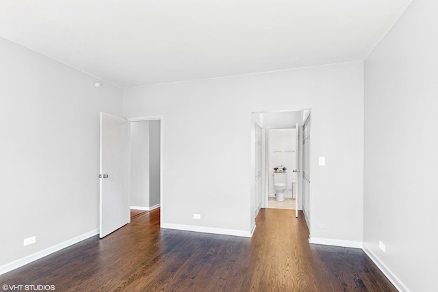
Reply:
[[8, 271], [12, 271], [13, 269], [17, 269], [18, 267], [23, 267], [23, 265], [27, 265], [33, 261], [36, 261], [44, 256], [48, 256], [49, 254], [53, 254], [53, 252], [57, 252], [62, 250], [63, 248], [68, 248], [68, 246], [78, 243], [79, 241], [83, 241], [94, 235], [99, 234], [99, 229], [92, 230], [88, 233], [84, 233], [83, 235], [79, 235], [72, 239], [68, 239], [62, 243], [58, 243], [56, 245], [51, 246], [50, 248], [46, 248], [44, 250], [40, 250], [39, 252], [35, 252], [34, 254], [29, 254], [29, 256], [25, 256], [24, 258], [19, 258], [16, 261], [11, 263], [7, 263], [0, 267], [0, 275], [8, 273]]

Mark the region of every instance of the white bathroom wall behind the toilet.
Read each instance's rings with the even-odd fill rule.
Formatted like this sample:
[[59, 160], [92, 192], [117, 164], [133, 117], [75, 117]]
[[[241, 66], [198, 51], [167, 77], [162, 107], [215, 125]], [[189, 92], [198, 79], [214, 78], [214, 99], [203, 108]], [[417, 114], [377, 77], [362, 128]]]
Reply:
[[[269, 196], [274, 196], [274, 168], [284, 165], [287, 168], [287, 191], [285, 197], [292, 198], [292, 181], [296, 180], [296, 142], [295, 129], [270, 129], [268, 130], [268, 157], [269, 157]], [[293, 152], [279, 153], [279, 150]]]

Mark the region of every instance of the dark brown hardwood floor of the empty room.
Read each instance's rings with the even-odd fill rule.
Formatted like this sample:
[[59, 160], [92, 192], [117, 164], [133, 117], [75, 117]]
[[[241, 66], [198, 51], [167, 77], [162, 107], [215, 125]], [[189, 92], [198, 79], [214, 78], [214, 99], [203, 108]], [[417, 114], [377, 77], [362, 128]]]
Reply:
[[397, 291], [359, 249], [310, 245], [293, 210], [261, 209], [253, 238], [159, 228], [159, 209], [0, 276], [55, 291]]

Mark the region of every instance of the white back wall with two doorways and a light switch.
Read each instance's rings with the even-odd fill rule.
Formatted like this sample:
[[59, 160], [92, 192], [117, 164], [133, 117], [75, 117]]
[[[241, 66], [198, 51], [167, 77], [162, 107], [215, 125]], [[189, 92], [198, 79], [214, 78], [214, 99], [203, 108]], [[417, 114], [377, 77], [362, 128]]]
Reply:
[[164, 115], [162, 223], [248, 233], [251, 113], [303, 108], [313, 115], [312, 220], [326, 224], [311, 234], [362, 241], [362, 62], [125, 90], [125, 116]]

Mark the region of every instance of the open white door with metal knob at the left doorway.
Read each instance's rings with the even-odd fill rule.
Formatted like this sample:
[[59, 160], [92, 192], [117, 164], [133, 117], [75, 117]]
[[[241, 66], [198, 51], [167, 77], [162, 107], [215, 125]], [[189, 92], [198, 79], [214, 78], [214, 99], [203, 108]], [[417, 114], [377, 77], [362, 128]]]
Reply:
[[129, 122], [101, 113], [100, 237], [129, 223]]

